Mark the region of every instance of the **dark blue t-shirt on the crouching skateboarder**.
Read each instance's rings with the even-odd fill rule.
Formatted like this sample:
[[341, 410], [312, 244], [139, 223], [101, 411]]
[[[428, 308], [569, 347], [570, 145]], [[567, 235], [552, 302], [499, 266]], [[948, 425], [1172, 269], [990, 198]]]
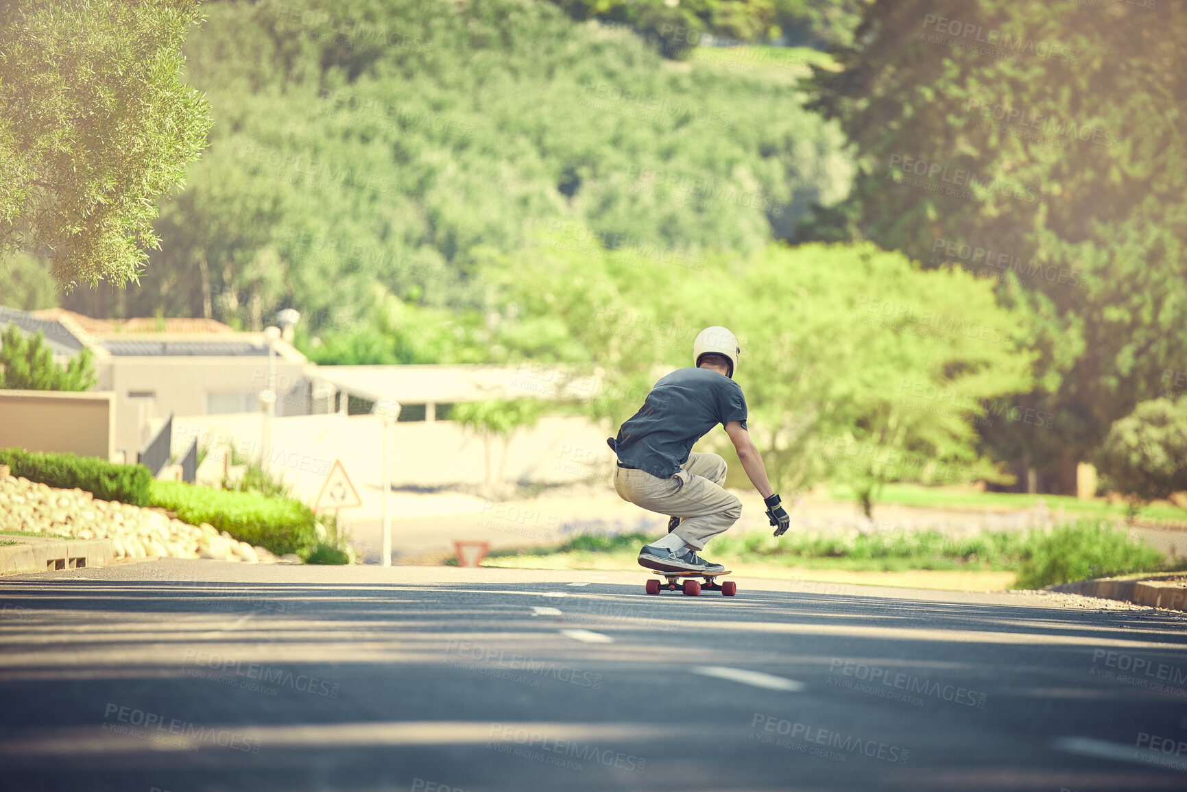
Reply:
[[709, 368], [680, 368], [655, 384], [607, 443], [623, 464], [669, 479], [710, 429], [731, 420], [745, 429], [745, 417], [741, 385]]

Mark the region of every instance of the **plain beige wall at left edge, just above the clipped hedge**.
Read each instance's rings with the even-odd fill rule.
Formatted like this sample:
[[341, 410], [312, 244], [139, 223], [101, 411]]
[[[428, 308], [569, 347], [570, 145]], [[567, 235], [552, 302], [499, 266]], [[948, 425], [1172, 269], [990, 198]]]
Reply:
[[64, 451], [110, 460], [115, 394], [0, 391], [0, 448]]

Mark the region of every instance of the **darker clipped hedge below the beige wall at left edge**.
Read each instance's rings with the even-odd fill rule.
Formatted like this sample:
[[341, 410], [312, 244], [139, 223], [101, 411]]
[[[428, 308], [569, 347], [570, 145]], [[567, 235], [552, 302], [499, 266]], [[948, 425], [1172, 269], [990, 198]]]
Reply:
[[84, 489], [95, 498], [133, 506], [148, 506], [152, 473], [142, 464], [115, 464], [77, 454], [43, 454], [0, 449], [0, 464], [23, 476], [59, 489]]

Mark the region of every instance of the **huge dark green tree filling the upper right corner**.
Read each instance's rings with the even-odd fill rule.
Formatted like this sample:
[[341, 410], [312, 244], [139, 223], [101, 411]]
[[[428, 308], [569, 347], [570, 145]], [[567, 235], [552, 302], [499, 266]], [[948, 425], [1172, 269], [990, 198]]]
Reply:
[[857, 150], [832, 229], [1003, 278], [1053, 432], [984, 432], [1074, 492], [1078, 461], [1187, 356], [1183, 4], [903, 0], [867, 12], [815, 107]]

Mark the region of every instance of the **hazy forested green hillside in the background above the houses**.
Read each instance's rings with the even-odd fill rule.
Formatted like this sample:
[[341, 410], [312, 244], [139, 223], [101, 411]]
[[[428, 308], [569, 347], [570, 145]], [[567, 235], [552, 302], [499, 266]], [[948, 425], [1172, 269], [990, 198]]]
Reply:
[[[531, 0], [205, 11], [185, 51], [210, 147], [163, 204], [141, 287], [119, 309], [70, 305], [243, 327], [293, 305], [311, 336], [381, 336], [394, 296], [481, 325], [483, 256], [539, 229], [750, 252], [849, 185], [836, 128], [800, 107], [802, 65], [772, 82], [673, 63]], [[411, 362], [404, 344], [374, 344]]]

